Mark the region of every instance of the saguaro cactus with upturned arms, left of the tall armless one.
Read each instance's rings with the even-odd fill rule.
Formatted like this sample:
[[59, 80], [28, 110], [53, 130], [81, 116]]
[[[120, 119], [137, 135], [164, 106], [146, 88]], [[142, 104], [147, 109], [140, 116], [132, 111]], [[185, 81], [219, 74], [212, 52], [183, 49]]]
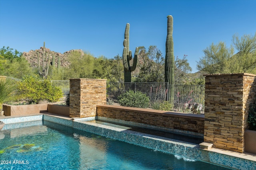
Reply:
[[137, 55], [138, 55], [138, 47], [136, 47], [134, 53], [133, 64], [130, 66], [130, 60], [132, 59], [132, 51], [129, 51], [129, 31], [130, 24], [126, 24], [125, 32], [124, 32], [124, 50], [123, 50], [123, 64], [124, 64], [124, 82], [131, 82], [132, 76], [131, 72], [135, 70], [137, 65]]

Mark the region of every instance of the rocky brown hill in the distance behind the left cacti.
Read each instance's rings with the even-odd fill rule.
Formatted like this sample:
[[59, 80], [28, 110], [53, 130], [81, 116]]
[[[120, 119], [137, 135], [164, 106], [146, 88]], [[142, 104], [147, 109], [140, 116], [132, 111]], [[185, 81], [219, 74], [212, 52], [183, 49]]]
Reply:
[[[30, 50], [28, 52], [23, 52], [22, 55], [23, 57], [26, 58], [26, 60], [28, 61], [28, 63], [30, 63], [30, 65], [32, 67], [37, 67], [38, 66], [38, 53], [39, 53], [39, 60], [40, 63], [42, 64], [42, 56], [43, 56], [43, 47], [40, 47], [40, 49], [36, 49], [36, 50]], [[60, 65], [67, 67], [69, 66], [69, 61], [68, 61], [68, 55], [72, 52], [72, 51], [78, 51], [81, 53], [81, 55], [84, 55], [84, 52], [81, 49], [77, 49], [77, 50], [70, 50], [70, 51], [66, 51], [65, 53], [58, 53], [55, 51], [50, 51], [50, 49], [45, 48], [45, 52], [47, 55], [47, 59], [48, 57], [50, 57], [50, 63], [52, 64], [52, 57], [55, 57], [55, 66], [57, 67], [58, 64], [58, 57], [60, 57]]]

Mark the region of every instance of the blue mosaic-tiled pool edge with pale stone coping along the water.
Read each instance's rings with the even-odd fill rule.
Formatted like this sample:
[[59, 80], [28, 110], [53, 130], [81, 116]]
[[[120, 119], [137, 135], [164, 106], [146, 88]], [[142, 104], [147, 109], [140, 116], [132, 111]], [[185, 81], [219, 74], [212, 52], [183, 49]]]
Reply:
[[[29, 125], [31, 121], [50, 121], [53, 123], [58, 123], [61, 125], [66, 125], [76, 129], [84, 130], [90, 133], [95, 133], [104, 137], [124, 141], [127, 143], [132, 143], [142, 147], [146, 147], [153, 150], [158, 150], [161, 152], [176, 154], [178, 156], [183, 156], [186, 158], [200, 160], [202, 162], [208, 162], [218, 166], [223, 166], [226, 168], [239, 169], [239, 170], [252, 170], [256, 169], [256, 156], [253, 154], [241, 154], [237, 152], [231, 152], [226, 150], [211, 149], [204, 150], [200, 149], [199, 145], [181, 142], [177, 140], [167, 139], [164, 137], [158, 137], [154, 135], [148, 135], [145, 133], [129, 131], [125, 129], [120, 129], [116, 127], [110, 127], [107, 125], [100, 125], [88, 120], [93, 120], [94, 117], [74, 119], [68, 117], [60, 117], [50, 114], [40, 114], [32, 116], [23, 116], [23, 117], [3, 117], [0, 119], [6, 123], [8, 129], [18, 128], [15, 125], [16, 123], [24, 123], [24, 126]], [[41, 123], [39, 122], [39, 123]], [[38, 122], [37, 122], [38, 124]], [[35, 125], [37, 125], [35, 124]], [[225, 154], [228, 153], [228, 154]], [[236, 157], [235, 155], [240, 155]], [[247, 155], [247, 157], [246, 157]], [[248, 159], [244, 159], [243, 157]]]

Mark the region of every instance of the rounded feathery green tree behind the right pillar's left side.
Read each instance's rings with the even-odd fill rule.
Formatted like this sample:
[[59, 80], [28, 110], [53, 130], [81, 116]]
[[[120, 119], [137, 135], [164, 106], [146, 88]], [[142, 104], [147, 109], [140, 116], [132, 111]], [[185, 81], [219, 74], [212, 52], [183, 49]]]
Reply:
[[228, 60], [234, 53], [233, 47], [227, 48], [224, 42], [210, 45], [203, 50], [204, 57], [197, 62], [196, 68], [204, 73], [223, 73], [228, 66]]

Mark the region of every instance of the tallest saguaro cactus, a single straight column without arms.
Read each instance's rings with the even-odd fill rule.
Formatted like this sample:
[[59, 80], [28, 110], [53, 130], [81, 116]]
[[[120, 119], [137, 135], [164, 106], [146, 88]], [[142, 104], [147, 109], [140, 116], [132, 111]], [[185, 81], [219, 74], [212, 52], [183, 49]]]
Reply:
[[168, 87], [168, 98], [170, 104], [174, 104], [174, 53], [173, 53], [173, 18], [172, 16], [167, 16], [167, 37], [166, 37], [166, 54], [165, 54], [165, 82], [169, 83]]

